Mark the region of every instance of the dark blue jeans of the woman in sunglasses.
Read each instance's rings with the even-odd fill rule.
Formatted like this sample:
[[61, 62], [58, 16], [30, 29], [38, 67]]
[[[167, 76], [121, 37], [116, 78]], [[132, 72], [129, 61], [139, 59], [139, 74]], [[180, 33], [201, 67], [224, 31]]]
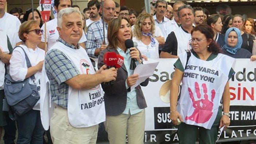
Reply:
[[17, 126], [17, 144], [43, 144], [44, 129], [40, 110], [30, 110], [22, 116], [18, 116]]

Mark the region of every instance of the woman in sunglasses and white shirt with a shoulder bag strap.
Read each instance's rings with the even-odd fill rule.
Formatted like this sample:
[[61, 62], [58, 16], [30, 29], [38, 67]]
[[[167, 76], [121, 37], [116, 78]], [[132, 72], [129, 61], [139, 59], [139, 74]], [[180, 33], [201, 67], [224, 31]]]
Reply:
[[[14, 81], [24, 81], [29, 78], [30, 84], [35, 84], [40, 93], [40, 77], [44, 60], [44, 50], [37, 47], [41, 42], [42, 30], [35, 20], [22, 23], [19, 29], [19, 38], [23, 44], [16, 47], [12, 52], [10, 59], [10, 75]], [[26, 56], [31, 63], [31, 67], [27, 67]], [[31, 80], [31, 76], [35, 76], [35, 80]], [[19, 144], [42, 144], [44, 129], [40, 119], [39, 102], [33, 109], [18, 116], [18, 141]]]

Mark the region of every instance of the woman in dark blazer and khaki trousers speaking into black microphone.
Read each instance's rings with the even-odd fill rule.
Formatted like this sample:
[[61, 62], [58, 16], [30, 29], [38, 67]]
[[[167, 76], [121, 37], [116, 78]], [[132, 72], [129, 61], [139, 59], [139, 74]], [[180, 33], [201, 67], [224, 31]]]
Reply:
[[106, 52], [115, 52], [124, 57], [123, 65], [117, 70], [116, 81], [113, 84], [102, 83], [105, 92], [106, 121], [110, 144], [143, 144], [145, 127], [145, 108], [147, 107], [141, 86], [148, 85], [148, 79], [131, 89], [135, 85], [138, 74], [130, 69], [132, 59], [141, 64], [141, 54], [135, 47], [125, 47], [125, 40], [132, 39], [131, 25], [124, 17], [112, 19], [108, 26], [108, 47], [100, 52], [98, 67], [104, 65], [103, 56]]

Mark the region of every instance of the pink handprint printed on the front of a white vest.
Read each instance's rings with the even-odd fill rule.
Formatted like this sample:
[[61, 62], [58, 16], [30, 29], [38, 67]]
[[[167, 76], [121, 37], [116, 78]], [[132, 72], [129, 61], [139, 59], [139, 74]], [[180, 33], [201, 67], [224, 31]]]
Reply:
[[186, 116], [185, 118], [186, 120], [195, 121], [197, 123], [205, 123], [212, 117], [213, 99], [215, 97], [215, 90], [214, 89], [212, 90], [212, 96], [211, 96], [212, 98], [210, 101], [207, 95], [207, 87], [205, 83], [202, 84], [202, 88], [204, 93], [203, 94], [204, 99], [200, 99], [201, 93], [200, 93], [199, 85], [197, 82], [195, 82], [195, 93], [197, 94], [197, 98], [199, 99], [197, 101], [195, 101], [193, 92], [189, 88], [189, 96], [193, 102], [193, 107], [195, 109], [191, 116]]

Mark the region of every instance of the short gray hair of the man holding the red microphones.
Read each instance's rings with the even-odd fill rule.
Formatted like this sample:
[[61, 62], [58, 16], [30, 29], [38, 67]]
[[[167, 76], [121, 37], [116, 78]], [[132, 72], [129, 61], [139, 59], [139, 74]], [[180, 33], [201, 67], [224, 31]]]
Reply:
[[81, 17], [81, 22], [82, 22], [82, 15], [81, 12], [79, 12], [77, 9], [75, 8], [64, 8], [61, 9], [61, 11], [58, 12], [58, 16], [57, 16], [57, 26], [61, 28], [61, 23], [62, 23], [62, 17], [63, 16], [67, 16], [70, 15], [71, 13], [78, 13]]

